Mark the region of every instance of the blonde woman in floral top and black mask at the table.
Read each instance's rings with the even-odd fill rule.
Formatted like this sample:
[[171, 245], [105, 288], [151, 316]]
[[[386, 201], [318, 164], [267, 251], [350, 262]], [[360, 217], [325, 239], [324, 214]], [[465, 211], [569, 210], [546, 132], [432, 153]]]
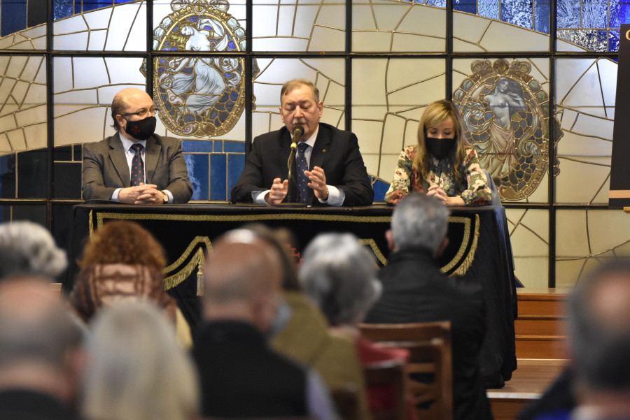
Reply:
[[419, 191], [446, 205], [487, 205], [488, 182], [475, 148], [463, 136], [457, 108], [451, 101], [435, 101], [420, 120], [418, 144], [400, 153], [385, 201], [398, 204]]

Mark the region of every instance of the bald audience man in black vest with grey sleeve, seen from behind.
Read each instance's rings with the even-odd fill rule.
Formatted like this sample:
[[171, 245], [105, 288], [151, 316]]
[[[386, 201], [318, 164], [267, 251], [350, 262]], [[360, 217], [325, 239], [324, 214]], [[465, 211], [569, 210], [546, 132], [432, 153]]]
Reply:
[[279, 258], [267, 242], [244, 229], [227, 233], [208, 255], [207, 322], [193, 349], [204, 417], [337, 418], [316, 372], [267, 345], [265, 333], [281, 291]]

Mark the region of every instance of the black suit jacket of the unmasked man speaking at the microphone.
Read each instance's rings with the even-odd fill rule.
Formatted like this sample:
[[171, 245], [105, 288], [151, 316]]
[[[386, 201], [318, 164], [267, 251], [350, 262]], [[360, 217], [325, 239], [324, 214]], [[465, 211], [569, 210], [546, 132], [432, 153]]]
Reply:
[[[291, 152], [291, 135], [282, 127], [278, 131], [254, 138], [251, 153], [241, 177], [232, 188], [234, 203], [251, 203], [252, 191], [271, 188], [274, 178], [286, 180], [286, 163]], [[326, 184], [344, 190], [344, 205], [370, 205], [374, 200], [374, 190], [367, 177], [363, 158], [359, 152], [358, 140], [353, 133], [319, 123], [317, 140], [311, 153], [309, 169], [319, 166], [326, 175]], [[295, 174], [295, 164], [293, 166]], [[289, 182], [290, 193], [297, 201], [295, 182]], [[325, 205], [315, 198], [314, 191], [308, 189], [307, 203]]]

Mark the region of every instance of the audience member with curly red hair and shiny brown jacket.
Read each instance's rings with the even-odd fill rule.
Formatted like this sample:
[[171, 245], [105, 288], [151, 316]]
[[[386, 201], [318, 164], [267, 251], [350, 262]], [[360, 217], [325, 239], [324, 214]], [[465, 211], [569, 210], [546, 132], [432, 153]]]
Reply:
[[166, 258], [162, 245], [134, 222], [104, 224], [83, 249], [70, 303], [85, 322], [103, 306], [147, 299], [165, 310], [176, 325], [179, 342], [192, 345], [190, 327], [174, 298], [164, 291]]

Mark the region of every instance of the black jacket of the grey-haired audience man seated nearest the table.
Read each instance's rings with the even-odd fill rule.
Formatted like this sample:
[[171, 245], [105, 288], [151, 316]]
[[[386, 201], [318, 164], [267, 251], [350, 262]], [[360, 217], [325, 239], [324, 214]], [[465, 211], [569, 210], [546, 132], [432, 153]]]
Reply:
[[480, 289], [464, 290], [440, 272], [424, 249], [391, 254], [379, 279], [383, 294], [367, 314], [372, 324], [451, 321], [455, 420], [492, 419], [479, 371], [479, 351], [486, 333]]

